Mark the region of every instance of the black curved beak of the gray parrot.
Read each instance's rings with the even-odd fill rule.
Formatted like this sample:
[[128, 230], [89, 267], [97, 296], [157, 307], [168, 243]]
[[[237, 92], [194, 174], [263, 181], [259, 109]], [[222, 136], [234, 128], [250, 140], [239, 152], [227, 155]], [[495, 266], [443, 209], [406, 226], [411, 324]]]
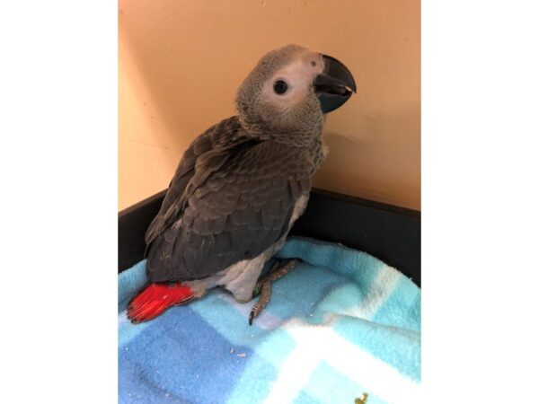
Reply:
[[337, 110], [352, 92], [356, 82], [347, 66], [334, 57], [323, 55], [323, 72], [314, 78], [314, 92], [318, 96], [324, 114]]

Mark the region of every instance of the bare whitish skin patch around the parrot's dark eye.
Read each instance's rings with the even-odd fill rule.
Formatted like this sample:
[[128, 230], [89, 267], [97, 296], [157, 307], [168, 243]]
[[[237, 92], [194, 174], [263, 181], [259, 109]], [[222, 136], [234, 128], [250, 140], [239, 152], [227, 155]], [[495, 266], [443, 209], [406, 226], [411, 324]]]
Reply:
[[[305, 100], [314, 77], [323, 71], [323, 58], [320, 53], [305, 51], [296, 60], [281, 68], [264, 83], [261, 92], [263, 101], [270, 101], [281, 110], [293, 107]], [[286, 91], [283, 92], [283, 89]]]

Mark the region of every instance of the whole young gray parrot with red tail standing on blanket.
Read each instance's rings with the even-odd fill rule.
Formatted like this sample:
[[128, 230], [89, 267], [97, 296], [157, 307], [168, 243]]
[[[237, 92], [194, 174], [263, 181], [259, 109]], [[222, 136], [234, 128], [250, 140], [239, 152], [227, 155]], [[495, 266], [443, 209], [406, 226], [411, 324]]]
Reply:
[[261, 277], [303, 214], [328, 152], [325, 115], [352, 92], [354, 77], [334, 57], [300, 45], [261, 57], [236, 92], [237, 114], [209, 127], [181, 157], [146, 230], [148, 282], [128, 303], [130, 321], [152, 320], [215, 287], [239, 303], [262, 289], [252, 324], [270, 282], [297, 262]]

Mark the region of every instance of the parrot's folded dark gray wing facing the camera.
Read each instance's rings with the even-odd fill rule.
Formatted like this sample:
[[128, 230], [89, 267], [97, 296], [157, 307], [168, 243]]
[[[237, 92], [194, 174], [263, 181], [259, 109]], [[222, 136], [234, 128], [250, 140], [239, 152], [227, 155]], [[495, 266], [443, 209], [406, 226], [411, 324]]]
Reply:
[[287, 233], [297, 199], [311, 187], [296, 153], [268, 141], [212, 149], [192, 171], [152, 240], [153, 282], [209, 277], [257, 257]]

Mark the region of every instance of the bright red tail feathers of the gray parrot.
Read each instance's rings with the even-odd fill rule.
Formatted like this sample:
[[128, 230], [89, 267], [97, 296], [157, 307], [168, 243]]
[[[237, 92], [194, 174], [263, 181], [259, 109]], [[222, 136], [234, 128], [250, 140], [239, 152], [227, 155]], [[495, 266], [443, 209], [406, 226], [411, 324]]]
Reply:
[[128, 319], [135, 323], [152, 320], [169, 307], [187, 303], [194, 297], [190, 288], [180, 283], [151, 284], [129, 302]]

